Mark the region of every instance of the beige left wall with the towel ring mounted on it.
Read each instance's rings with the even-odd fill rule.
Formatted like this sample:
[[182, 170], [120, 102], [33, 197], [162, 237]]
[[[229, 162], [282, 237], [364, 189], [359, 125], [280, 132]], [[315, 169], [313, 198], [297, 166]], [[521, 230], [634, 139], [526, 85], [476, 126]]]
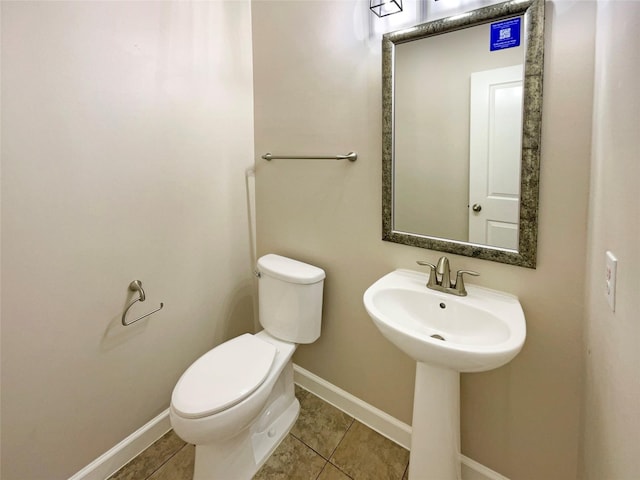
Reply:
[[63, 479], [252, 326], [250, 5], [1, 9], [0, 476]]

